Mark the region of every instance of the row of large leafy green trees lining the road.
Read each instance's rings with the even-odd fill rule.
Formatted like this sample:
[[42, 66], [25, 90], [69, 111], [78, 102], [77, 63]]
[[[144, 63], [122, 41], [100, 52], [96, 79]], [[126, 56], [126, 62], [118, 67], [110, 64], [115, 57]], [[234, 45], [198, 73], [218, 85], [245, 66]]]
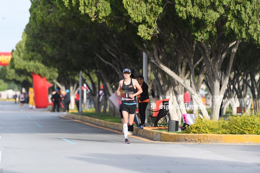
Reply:
[[194, 105], [203, 104], [199, 93], [203, 81], [212, 96], [211, 116], [201, 109], [206, 118], [218, 119], [223, 97], [234, 107], [236, 98], [244, 106], [248, 86], [255, 103], [260, 100], [254, 94], [260, 88], [255, 80], [260, 43], [257, 0], [31, 2], [30, 21], [8, 69], [17, 75], [12, 79], [30, 82], [28, 76], [35, 72], [48, 80], [57, 78], [61, 87], [75, 93], [82, 71], [100, 110], [100, 84], [106, 103], [123, 68], [141, 73], [145, 52], [152, 74], [149, 87], [156, 85], [162, 98], [170, 97], [170, 104], [181, 106], [170, 110], [171, 119], [180, 120], [186, 113], [184, 88]]

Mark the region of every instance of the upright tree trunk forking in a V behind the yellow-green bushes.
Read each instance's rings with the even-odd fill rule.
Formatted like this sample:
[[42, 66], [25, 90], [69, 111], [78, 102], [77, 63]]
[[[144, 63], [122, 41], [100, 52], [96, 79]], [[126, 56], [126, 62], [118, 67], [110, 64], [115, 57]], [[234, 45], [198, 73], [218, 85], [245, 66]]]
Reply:
[[[217, 31], [219, 32], [219, 23], [216, 23]], [[199, 51], [203, 56], [204, 63], [207, 68], [206, 78], [208, 80], [210, 90], [212, 93], [212, 105], [211, 105], [211, 119], [218, 120], [219, 119], [219, 110], [220, 105], [224, 96], [225, 89], [228, 85], [229, 76], [234, 60], [234, 56], [237, 51], [237, 47], [240, 43], [240, 40], [236, 40], [236, 42], [232, 44], [223, 44], [221, 40], [221, 33], [218, 34], [218, 47], [219, 49], [214, 50], [215, 46], [212, 41], [210, 41], [210, 45], [205, 44], [204, 42], [200, 42], [198, 45]], [[234, 45], [234, 46], [233, 46]], [[221, 66], [224, 58], [226, 57], [226, 53], [229, 50], [229, 47], [232, 47], [231, 55], [229, 58], [229, 63], [227, 65], [227, 69], [225, 71], [225, 76], [223, 77], [223, 81], [220, 81], [220, 72]], [[209, 50], [209, 47], [212, 48], [212, 51]], [[212, 54], [210, 54], [212, 52]], [[211, 57], [212, 56], [212, 57]], [[220, 88], [220, 84], [222, 87]]]

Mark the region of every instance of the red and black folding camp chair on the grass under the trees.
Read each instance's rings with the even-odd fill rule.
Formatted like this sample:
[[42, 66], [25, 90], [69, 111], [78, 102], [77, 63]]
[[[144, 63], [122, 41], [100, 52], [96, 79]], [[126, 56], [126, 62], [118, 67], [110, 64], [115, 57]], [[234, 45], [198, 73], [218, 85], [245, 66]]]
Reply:
[[[157, 100], [153, 110], [149, 109], [149, 117], [152, 119], [152, 127], [168, 126], [169, 100]], [[161, 122], [159, 122], [161, 120]]]

